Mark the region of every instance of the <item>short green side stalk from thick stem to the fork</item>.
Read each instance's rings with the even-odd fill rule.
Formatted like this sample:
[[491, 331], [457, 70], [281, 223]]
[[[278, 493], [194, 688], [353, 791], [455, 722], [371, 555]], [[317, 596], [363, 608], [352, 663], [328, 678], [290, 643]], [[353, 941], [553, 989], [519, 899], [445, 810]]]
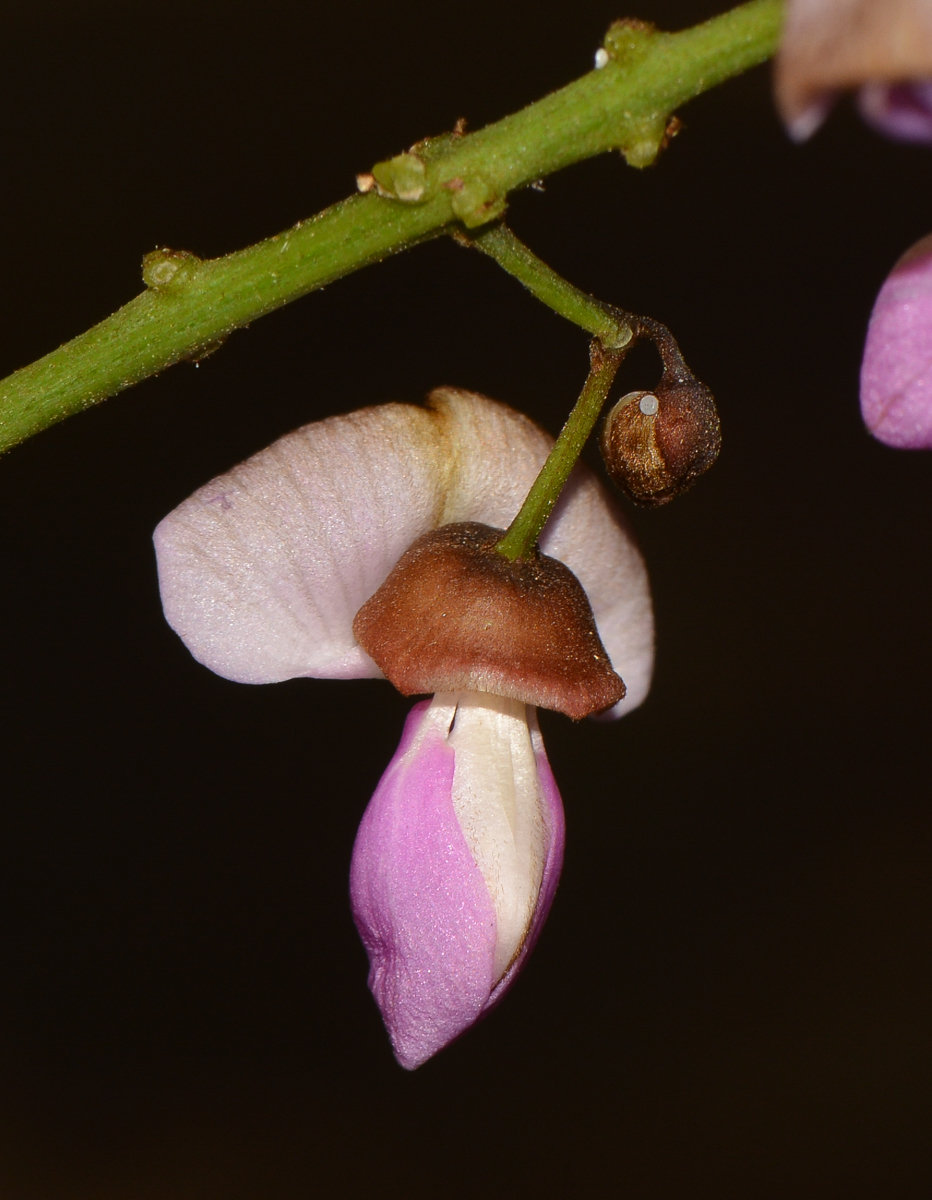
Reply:
[[493, 226], [473, 238], [458, 239], [464, 245], [475, 246], [483, 254], [494, 258], [509, 275], [513, 275], [542, 304], [561, 317], [581, 325], [600, 340], [606, 349], [620, 350], [631, 341], [632, 330], [627, 322], [613, 313], [594, 296], [587, 295], [533, 253], [515, 236], [507, 226]]

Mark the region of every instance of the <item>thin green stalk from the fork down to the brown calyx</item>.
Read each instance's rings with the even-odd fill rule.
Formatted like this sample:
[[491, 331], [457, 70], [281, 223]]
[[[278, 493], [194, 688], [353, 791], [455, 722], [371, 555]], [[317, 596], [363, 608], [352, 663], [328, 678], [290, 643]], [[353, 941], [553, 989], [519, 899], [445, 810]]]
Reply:
[[566, 419], [559, 438], [551, 450], [547, 462], [534, 481], [521, 511], [509, 526], [505, 536], [495, 546], [499, 554], [515, 560], [527, 558], [537, 544], [541, 530], [559, 499], [560, 492], [570, 472], [582, 454], [589, 434], [599, 420], [602, 406], [608, 397], [608, 390], [625, 356], [625, 348], [605, 349], [599, 341], [593, 341], [590, 349], [591, 367], [576, 407]]

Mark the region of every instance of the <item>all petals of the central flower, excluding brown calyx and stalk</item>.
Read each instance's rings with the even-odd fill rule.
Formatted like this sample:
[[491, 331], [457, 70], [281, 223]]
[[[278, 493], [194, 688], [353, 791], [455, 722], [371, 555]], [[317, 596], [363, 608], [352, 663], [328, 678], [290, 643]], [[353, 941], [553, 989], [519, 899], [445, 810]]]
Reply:
[[[551, 438], [455, 389], [305, 426], [202, 487], [156, 529], [162, 602], [211, 670], [243, 683], [379, 677], [353, 636], [360, 607], [440, 526], [505, 528]], [[605, 490], [577, 468], [541, 539], [588, 594], [627, 684], [647, 694], [647, 572]], [[536, 710], [482, 692], [415, 706], [366, 810], [351, 900], [369, 985], [402, 1066], [458, 1037], [510, 986], [563, 862], [563, 806]]]

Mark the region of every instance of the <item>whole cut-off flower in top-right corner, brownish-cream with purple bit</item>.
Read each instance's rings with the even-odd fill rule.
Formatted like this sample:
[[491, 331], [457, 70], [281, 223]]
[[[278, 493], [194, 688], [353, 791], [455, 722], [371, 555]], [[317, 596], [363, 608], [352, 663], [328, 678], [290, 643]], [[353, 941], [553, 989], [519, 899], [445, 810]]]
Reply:
[[888, 137], [932, 142], [932, 0], [788, 0], [776, 102], [796, 142], [840, 91]]

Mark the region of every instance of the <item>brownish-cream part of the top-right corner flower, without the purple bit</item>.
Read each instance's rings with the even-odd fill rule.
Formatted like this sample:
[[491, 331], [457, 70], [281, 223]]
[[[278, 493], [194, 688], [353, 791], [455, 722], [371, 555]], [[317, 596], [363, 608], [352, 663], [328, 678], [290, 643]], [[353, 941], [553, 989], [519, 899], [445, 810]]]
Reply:
[[932, 0], [789, 0], [775, 84], [798, 140], [814, 132], [836, 91], [930, 77]]

